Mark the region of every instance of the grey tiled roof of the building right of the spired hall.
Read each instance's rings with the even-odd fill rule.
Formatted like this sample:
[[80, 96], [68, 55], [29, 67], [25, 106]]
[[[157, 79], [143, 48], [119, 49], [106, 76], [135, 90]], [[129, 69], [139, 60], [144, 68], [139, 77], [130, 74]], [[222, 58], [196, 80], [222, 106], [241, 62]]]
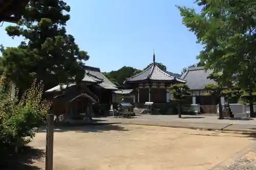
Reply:
[[204, 67], [192, 67], [186, 68], [186, 71], [181, 76], [181, 79], [186, 80], [186, 85], [191, 90], [204, 89], [207, 84], [217, 84], [216, 81], [208, 79], [208, 76], [212, 74], [213, 69], [205, 69]]

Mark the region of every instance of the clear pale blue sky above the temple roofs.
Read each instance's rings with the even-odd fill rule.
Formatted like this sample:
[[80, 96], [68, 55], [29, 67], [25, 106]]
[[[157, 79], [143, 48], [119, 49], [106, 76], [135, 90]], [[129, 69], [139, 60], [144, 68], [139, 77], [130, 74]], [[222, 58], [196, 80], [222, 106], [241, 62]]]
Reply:
[[[76, 38], [80, 50], [91, 58], [87, 65], [111, 71], [132, 66], [143, 69], [153, 60], [168, 71], [180, 73], [196, 63], [202, 46], [182, 25], [175, 5], [198, 8], [194, 0], [66, 0], [71, 6], [67, 30]], [[11, 39], [0, 28], [0, 44], [17, 46], [21, 38]]]

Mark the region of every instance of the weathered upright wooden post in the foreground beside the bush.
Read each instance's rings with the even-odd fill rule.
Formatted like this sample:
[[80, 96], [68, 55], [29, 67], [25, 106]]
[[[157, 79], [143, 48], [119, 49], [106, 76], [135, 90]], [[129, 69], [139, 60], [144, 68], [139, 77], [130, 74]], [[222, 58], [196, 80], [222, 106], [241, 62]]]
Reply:
[[47, 114], [46, 170], [53, 169], [53, 122], [54, 122], [54, 115]]

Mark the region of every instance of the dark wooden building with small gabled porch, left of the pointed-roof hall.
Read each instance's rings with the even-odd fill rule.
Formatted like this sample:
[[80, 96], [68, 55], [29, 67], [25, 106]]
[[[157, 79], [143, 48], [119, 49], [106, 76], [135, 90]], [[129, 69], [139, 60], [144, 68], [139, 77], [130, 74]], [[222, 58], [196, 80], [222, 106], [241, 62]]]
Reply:
[[46, 94], [53, 101], [54, 114], [76, 117], [92, 112], [103, 115], [110, 109], [113, 90], [117, 87], [101, 74], [99, 68], [86, 66], [81, 84], [58, 85], [47, 90]]

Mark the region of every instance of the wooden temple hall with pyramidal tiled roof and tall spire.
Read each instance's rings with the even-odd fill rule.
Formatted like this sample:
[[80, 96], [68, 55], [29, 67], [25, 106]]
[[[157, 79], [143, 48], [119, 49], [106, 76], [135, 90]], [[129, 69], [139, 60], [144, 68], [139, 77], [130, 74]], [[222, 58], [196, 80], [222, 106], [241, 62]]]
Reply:
[[161, 70], [155, 62], [154, 53], [152, 65], [139, 74], [127, 78], [125, 83], [135, 89], [135, 103], [141, 107], [145, 102], [153, 102], [154, 105], [170, 103], [169, 86], [186, 81]]

